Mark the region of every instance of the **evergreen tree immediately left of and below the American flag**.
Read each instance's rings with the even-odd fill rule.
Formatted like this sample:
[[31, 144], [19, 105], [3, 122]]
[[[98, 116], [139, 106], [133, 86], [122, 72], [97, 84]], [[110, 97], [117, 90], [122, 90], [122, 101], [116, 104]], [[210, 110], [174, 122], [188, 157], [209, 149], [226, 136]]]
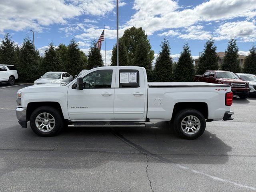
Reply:
[[88, 54], [88, 69], [92, 69], [94, 66], [104, 66], [100, 50], [96, 47], [95, 40], [92, 42]]

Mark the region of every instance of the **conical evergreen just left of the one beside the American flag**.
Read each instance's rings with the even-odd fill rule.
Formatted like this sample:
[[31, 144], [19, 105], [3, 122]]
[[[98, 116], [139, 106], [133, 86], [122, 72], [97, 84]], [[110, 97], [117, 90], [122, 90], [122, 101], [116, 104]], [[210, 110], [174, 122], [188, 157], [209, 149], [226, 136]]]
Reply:
[[73, 38], [68, 45], [67, 62], [66, 66], [64, 66], [66, 72], [75, 76], [81, 70], [86, 69], [86, 63], [84, 61], [78, 43]]

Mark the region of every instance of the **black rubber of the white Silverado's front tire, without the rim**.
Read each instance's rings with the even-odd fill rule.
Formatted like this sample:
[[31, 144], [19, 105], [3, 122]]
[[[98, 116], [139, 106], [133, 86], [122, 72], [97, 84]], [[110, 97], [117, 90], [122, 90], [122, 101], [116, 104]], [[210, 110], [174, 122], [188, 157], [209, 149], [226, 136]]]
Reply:
[[[49, 113], [55, 119], [54, 128], [49, 132], [40, 131], [36, 127], [36, 117], [41, 113]], [[42, 137], [55, 136], [59, 134], [62, 128], [64, 127], [64, 119], [62, 117], [61, 112], [58, 109], [51, 106], [42, 106], [32, 112], [30, 116], [30, 127], [39, 136], [42, 136]]]

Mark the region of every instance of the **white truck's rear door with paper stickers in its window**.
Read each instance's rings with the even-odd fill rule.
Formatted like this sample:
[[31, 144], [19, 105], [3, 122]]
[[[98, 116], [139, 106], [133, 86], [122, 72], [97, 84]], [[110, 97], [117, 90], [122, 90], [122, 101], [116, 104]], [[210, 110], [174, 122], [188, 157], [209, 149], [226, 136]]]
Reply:
[[146, 84], [143, 70], [116, 69], [114, 117], [116, 120], [146, 119]]

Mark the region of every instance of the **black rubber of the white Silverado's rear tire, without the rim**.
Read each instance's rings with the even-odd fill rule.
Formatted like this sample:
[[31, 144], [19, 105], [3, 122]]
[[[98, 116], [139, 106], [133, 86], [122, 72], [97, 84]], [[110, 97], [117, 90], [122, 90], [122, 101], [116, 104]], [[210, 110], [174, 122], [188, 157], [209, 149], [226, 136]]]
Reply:
[[[195, 116], [200, 121], [200, 127], [198, 128], [197, 132], [194, 133], [194, 134], [192, 133], [191, 129], [188, 132], [188, 134], [186, 134], [183, 131], [183, 129], [182, 129], [182, 126], [186, 127], [186, 125], [182, 124], [182, 120], [184, 118], [186, 118], [187, 116]], [[206, 121], [205, 121], [205, 118], [204, 118], [203, 114], [201, 112], [199, 112], [198, 110], [195, 110], [195, 109], [184, 109], [184, 110], [180, 110], [176, 114], [176, 116], [174, 117], [173, 126], [174, 126], [175, 132], [181, 138], [184, 138], [184, 139], [196, 139], [196, 138], [200, 137], [204, 133], [204, 130], [205, 130], [205, 127], [206, 127]], [[195, 127], [198, 127], [198, 126], [196, 125]]]

